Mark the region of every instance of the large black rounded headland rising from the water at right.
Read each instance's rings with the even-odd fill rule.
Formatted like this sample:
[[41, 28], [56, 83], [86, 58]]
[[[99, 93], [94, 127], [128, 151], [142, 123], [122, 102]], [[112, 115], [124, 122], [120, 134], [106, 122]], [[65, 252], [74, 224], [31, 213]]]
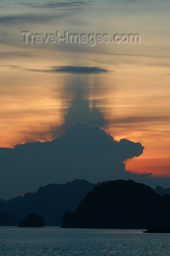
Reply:
[[147, 229], [170, 226], [170, 195], [132, 180], [117, 180], [92, 189], [73, 212], [67, 211], [62, 227]]

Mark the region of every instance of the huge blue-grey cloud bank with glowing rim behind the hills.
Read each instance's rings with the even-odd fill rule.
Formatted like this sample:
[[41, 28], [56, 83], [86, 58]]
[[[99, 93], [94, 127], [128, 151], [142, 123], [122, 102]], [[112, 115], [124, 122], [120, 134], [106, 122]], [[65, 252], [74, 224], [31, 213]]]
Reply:
[[143, 149], [140, 143], [117, 142], [102, 128], [83, 123], [71, 125], [51, 142], [0, 148], [0, 198], [76, 178], [90, 182], [128, 178], [123, 161], [139, 156]]

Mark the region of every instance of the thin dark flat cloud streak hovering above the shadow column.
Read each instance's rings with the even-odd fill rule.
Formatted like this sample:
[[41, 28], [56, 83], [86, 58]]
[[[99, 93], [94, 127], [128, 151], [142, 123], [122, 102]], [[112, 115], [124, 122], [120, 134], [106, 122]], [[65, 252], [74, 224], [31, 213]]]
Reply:
[[27, 69], [38, 72], [50, 72], [50, 73], [72, 73], [72, 74], [99, 74], [108, 72], [105, 68], [99, 67], [83, 67], [83, 66], [52, 66], [49, 69]]

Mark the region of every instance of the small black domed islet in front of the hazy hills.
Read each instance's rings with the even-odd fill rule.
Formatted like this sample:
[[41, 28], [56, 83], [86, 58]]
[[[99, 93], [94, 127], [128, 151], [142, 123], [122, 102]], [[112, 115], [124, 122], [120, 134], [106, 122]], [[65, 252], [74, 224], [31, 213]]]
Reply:
[[18, 227], [43, 227], [44, 219], [36, 213], [29, 214], [19, 222]]

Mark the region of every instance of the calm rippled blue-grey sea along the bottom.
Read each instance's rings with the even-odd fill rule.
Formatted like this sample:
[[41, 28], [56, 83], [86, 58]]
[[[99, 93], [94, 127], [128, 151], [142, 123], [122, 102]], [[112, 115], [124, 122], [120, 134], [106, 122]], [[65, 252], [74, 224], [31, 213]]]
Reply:
[[0, 255], [170, 255], [170, 234], [142, 231], [0, 227]]

